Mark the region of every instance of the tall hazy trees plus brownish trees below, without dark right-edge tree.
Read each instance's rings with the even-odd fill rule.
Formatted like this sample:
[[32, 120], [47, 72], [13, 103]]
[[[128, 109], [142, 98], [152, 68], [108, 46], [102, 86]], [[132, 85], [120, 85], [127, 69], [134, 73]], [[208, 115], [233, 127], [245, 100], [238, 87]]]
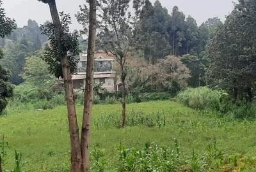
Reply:
[[[220, 18], [209, 18], [198, 26], [193, 17], [186, 17], [177, 6], [168, 11], [159, 1], [152, 4], [148, 0], [138, 13], [132, 23], [133, 62], [127, 64], [129, 92], [139, 89], [175, 94], [184, 87], [204, 86], [209, 66], [206, 47], [216, 29], [223, 25]], [[161, 70], [164, 63], [169, 65], [166, 72]]]

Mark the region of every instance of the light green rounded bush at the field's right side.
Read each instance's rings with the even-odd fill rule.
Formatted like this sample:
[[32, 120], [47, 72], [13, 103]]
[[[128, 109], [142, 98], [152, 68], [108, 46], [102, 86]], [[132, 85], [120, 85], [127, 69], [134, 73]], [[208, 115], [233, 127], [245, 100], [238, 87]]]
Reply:
[[177, 101], [194, 109], [220, 110], [222, 95], [221, 91], [207, 87], [189, 88], [177, 95]]

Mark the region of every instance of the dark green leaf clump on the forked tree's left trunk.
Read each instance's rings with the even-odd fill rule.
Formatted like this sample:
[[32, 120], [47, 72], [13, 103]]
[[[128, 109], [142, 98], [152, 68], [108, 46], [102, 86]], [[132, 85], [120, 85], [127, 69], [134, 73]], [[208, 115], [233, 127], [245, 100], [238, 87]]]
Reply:
[[43, 33], [49, 38], [49, 47], [45, 50], [44, 60], [49, 64], [49, 71], [57, 78], [62, 77], [61, 58], [67, 55], [71, 73], [76, 72], [77, 55], [79, 55], [79, 33], [70, 33], [68, 25], [71, 24], [69, 15], [60, 13], [61, 40], [56, 39], [55, 26], [52, 23], [41, 25]]

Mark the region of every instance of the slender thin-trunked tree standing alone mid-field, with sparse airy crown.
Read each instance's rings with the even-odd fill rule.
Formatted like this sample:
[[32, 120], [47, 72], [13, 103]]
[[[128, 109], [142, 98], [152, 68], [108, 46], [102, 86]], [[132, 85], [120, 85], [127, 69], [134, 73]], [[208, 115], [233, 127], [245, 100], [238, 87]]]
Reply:
[[[139, 9], [139, 1], [134, 1], [134, 8]], [[141, 1], [142, 2], [142, 1]], [[116, 62], [120, 68], [120, 80], [122, 83], [122, 126], [125, 127], [126, 113], [125, 113], [125, 78], [127, 76], [126, 62], [127, 58], [131, 55], [134, 45], [132, 25], [135, 24], [138, 16], [132, 16], [129, 11], [129, 4], [131, 0], [127, 1], [99, 1], [99, 15], [97, 34], [97, 43], [102, 50], [113, 54]], [[138, 6], [139, 5], [139, 6]], [[77, 15], [86, 16], [86, 7], [81, 8], [80, 13]], [[138, 11], [136, 11], [138, 14]], [[81, 17], [79, 17], [81, 18]], [[79, 19], [77, 18], [77, 19]], [[86, 17], [88, 18], [88, 17]], [[88, 20], [84, 18], [84, 20]], [[79, 21], [79, 20], [78, 20]], [[85, 24], [86, 22], [81, 22]]]

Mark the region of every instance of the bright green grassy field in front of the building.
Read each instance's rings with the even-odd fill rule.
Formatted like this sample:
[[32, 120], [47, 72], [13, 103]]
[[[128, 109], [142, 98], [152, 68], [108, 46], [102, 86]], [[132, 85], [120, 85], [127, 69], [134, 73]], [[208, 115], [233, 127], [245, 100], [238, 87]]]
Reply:
[[[77, 107], [79, 125], [82, 106]], [[180, 151], [191, 155], [204, 152], [215, 139], [218, 148], [225, 155], [241, 154], [241, 157], [256, 156], [256, 122], [214, 117], [186, 108], [170, 101], [152, 101], [148, 103], [128, 104], [127, 111], [168, 114], [167, 124], [159, 127], [138, 125], [118, 129], [116, 127], [92, 127], [92, 145], [104, 148], [110, 166], [118, 161], [116, 148], [122, 143], [126, 147], [141, 148], [147, 142], [173, 147], [174, 140], [180, 144]], [[95, 105], [93, 121], [106, 113], [120, 113], [120, 104]], [[67, 113], [65, 106], [44, 111], [24, 111], [0, 117], [0, 134], [6, 136], [10, 145], [7, 150], [6, 169], [13, 167], [13, 152], [22, 152], [24, 171], [54, 171], [54, 168], [66, 166], [69, 161], [69, 138]], [[240, 156], [240, 155], [239, 155]], [[254, 164], [246, 171], [256, 171]]]

